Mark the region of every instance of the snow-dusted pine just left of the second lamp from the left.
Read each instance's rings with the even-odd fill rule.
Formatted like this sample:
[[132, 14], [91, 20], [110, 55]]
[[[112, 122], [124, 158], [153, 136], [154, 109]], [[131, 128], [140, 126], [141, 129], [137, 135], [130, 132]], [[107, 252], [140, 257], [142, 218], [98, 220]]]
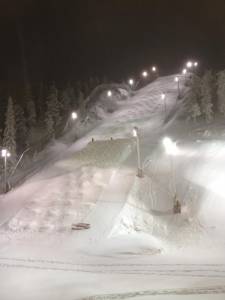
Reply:
[[61, 104], [59, 102], [58, 90], [54, 84], [51, 85], [47, 96], [47, 115], [48, 118], [52, 119], [55, 127], [61, 124]]

